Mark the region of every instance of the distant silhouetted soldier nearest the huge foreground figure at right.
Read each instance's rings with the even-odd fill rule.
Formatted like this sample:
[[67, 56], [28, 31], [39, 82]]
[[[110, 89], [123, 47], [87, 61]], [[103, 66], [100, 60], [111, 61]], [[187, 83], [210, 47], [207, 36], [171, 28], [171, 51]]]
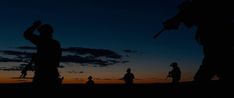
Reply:
[[172, 70], [169, 71], [167, 77], [171, 77], [172, 83], [177, 84], [181, 79], [181, 70], [178, 67], [178, 63], [176, 63], [176, 62], [171, 63], [170, 66], [172, 67]]

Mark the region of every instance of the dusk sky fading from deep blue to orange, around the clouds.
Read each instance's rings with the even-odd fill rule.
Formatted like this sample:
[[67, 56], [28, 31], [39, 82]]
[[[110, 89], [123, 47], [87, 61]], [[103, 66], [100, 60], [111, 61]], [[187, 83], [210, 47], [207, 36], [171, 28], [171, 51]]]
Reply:
[[[191, 81], [201, 60], [201, 46], [194, 39], [195, 27], [181, 25], [178, 31], [165, 31], [162, 22], [177, 13], [182, 0], [1, 0], [0, 50], [33, 46], [23, 32], [35, 20], [51, 24], [54, 38], [62, 47], [108, 49], [128, 55], [128, 63], [106, 67], [64, 64], [60, 73], [65, 83], [85, 83], [92, 75], [96, 83], [123, 83], [119, 80], [130, 67], [137, 83], [169, 82], [165, 80], [170, 63], [178, 62], [182, 81]], [[126, 53], [122, 50], [133, 50]], [[3, 56], [3, 55], [2, 55]], [[0, 66], [18, 66], [1, 62]], [[29, 73], [30, 77], [33, 72]], [[20, 71], [0, 71], [0, 83], [25, 82], [17, 79]]]

